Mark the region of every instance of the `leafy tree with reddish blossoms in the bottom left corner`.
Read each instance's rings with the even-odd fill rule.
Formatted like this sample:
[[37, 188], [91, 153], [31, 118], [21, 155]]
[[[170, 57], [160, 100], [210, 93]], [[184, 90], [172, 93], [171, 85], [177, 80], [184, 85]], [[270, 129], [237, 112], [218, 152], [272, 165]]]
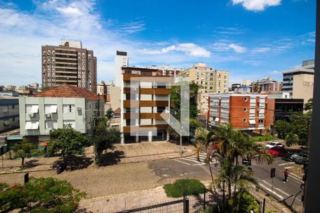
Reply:
[[[25, 185], [0, 183], [0, 211], [28, 207], [28, 212], [75, 212], [84, 192], [55, 178], [33, 178]], [[30, 205], [31, 203], [31, 205]]]

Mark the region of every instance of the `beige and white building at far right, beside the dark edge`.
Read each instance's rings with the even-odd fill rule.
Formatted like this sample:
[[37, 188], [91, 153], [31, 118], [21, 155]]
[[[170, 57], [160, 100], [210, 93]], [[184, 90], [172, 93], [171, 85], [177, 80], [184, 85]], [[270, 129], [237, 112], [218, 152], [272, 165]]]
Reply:
[[314, 94], [314, 60], [302, 62], [301, 67], [282, 72], [282, 91], [289, 92], [293, 99], [304, 99], [308, 102]]

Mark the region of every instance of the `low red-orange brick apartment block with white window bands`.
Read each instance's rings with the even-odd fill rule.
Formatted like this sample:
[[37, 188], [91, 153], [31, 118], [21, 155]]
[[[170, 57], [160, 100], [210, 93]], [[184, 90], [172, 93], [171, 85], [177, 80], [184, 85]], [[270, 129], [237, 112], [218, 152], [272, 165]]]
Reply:
[[212, 94], [209, 96], [210, 126], [231, 124], [234, 129], [262, 133], [274, 120], [274, 99], [262, 94]]

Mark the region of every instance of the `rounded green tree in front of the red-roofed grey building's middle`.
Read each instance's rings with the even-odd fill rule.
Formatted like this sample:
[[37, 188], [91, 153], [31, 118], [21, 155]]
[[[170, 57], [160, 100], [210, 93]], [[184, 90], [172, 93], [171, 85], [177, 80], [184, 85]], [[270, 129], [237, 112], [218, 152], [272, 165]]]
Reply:
[[55, 155], [60, 151], [61, 155], [73, 155], [80, 152], [85, 146], [90, 145], [90, 140], [76, 131], [70, 125], [63, 129], [53, 129], [50, 131], [50, 142], [48, 143], [48, 154]]

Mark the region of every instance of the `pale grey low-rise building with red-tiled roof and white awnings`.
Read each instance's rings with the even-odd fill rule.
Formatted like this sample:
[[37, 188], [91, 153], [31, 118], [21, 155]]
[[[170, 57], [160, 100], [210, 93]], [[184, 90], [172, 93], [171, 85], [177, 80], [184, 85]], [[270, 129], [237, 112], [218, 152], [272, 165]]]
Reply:
[[70, 85], [19, 97], [21, 136], [48, 141], [51, 129], [68, 124], [81, 133], [88, 133], [97, 117], [104, 115], [104, 100], [99, 98], [86, 89]]

